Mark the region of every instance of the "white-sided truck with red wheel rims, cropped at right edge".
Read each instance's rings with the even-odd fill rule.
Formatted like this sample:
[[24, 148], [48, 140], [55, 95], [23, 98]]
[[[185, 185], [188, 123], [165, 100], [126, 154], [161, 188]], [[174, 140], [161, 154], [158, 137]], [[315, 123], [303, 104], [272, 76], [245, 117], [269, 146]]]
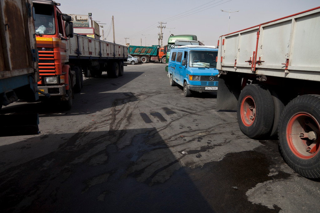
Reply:
[[217, 109], [250, 138], [278, 135], [287, 164], [320, 178], [320, 7], [220, 36]]

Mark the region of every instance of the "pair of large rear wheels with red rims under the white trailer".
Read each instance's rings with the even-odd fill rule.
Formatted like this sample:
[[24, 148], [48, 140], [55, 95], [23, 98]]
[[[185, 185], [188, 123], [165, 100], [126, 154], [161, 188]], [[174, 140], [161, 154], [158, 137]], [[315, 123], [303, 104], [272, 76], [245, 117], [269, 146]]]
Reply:
[[237, 118], [250, 138], [278, 133], [287, 164], [304, 177], [320, 179], [320, 95], [298, 96], [284, 107], [274, 90], [250, 84], [239, 96]]

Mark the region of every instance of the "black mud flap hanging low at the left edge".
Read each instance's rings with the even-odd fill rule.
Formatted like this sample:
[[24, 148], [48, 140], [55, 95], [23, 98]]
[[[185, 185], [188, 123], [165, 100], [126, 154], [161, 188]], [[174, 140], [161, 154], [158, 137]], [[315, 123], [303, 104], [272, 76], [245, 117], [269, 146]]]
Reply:
[[0, 137], [40, 133], [38, 113], [0, 115], [0, 120]]

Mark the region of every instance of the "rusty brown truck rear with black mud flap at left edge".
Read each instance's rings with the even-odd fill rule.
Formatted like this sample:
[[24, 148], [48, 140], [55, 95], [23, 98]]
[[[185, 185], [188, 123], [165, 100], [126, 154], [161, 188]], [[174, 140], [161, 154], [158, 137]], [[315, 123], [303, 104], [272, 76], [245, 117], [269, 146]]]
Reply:
[[[0, 109], [18, 99], [39, 98], [32, 8], [32, 0], [0, 1]], [[11, 109], [0, 115], [0, 136], [39, 133], [38, 114], [19, 113]]]

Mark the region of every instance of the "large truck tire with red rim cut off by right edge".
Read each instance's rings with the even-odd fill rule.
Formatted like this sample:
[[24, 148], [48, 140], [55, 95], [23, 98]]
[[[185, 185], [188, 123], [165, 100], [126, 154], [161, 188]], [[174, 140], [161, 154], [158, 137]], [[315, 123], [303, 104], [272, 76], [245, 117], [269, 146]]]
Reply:
[[[301, 137], [302, 135], [308, 137]], [[314, 138], [313, 138], [314, 137]], [[301, 95], [284, 108], [279, 147], [287, 164], [300, 175], [320, 179], [320, 95]]]

